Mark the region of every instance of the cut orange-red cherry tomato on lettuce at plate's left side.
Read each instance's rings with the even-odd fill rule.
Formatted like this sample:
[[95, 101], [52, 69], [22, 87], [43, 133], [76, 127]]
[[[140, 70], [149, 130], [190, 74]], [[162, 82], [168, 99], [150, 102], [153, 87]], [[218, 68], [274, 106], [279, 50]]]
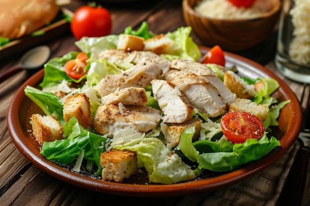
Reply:
[[88, 60], [87, 53], [81, 52], [76, 56], [76, 59], [71, 59], [67, 61], [64, 65], [64, 71], [67, 75], [75, 80], [79, 80], [81, 77], [87, 74], [88, 70], [85, 68], [87, 66]]

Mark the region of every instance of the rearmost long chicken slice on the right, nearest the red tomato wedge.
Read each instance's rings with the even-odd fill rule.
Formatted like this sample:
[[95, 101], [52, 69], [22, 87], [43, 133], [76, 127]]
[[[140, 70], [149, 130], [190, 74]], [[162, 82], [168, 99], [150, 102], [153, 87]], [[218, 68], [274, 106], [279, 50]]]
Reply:
[[206, 64], [201, 64], [199, 62], [193, 62], [191, 60], [185, 59], [175, 59], [171, 62], [171, 68], [194, 73], [207, 79], [217, 88], [221, 97], [226, 101], [227, 109], [230, 107], [231, 103], [236, 101], [236, 94], [231, 92], [224, 85], [224, 83], [218, 79], [217, 74], [213, 72], [213, 70], [210, 69]]

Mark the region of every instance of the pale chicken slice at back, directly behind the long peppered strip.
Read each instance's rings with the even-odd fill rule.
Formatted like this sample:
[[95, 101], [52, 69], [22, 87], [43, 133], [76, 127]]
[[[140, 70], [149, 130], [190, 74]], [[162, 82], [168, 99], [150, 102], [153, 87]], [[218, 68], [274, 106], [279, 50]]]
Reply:
[[159, 69], [162, 70], [162, 74], [165, 74], [170, 70], [171, 64], [171, 61], [157, 55], [153, 51], [133, 51], [129, 54], [125, 61], [131, 61], [134, 64], [144, 61], [152, 61]]

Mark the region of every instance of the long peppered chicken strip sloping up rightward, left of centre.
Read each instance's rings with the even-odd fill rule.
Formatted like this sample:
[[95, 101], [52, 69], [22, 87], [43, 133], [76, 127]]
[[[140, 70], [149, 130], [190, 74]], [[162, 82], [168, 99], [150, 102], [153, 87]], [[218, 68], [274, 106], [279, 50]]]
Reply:
[[118, 87], [140, 87], [145, 88], [151, 85], [151, 81], [158, 79], [161, 70], [151, 61], [141, 62], [130, 69], [117, 74], [109, 75], [97, 84], [96, 89], [100, 96], [114, 92]]

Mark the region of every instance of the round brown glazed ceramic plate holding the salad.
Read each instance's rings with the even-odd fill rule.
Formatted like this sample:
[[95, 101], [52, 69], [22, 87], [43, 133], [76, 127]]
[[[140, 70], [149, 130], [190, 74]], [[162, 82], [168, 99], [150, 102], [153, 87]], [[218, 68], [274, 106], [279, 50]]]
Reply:
[[[200, 47], [200, 49], [205, 54], [209, 48]], [[210, 172], [199, 179], [171, 185], [146, 184], [146, 175], [135, 176], [124, 183], [114, 183], [103, 181], [100, 178], [93, 178], [88, 174], [81, 175], [48, 161], [40, 155], [38, 144], [35, 142], [31, 132], [29, 132], [31, 129], [29, 117], [38, 112], [42, 114], [42, 111], [24, 94], [24, 87], [26, 85], [38, 86], [43, 79], [44, 70], [41, 70], [25, 82], [12, 99], [7, 114], [7, 125], [11, 138], [16, 147], [29, 161], [52, 176], [65, 182], [103, 193], [126, 196], [180, 196], [216, 190], [237, 183], [271, 165], [291, 147], [299, 133], [302, 112], [294, 92], [273, 73], [249, 59], [228, 52], [225, 55], [227, 66], [236, 65], [240, 76], [274, 78], [280, 84], [280, 88], [274, 93], [275, 97], [279, 101], [291, 100], [281, 111], [279, 117], [280, 125], [272, 128], [272, 135], [280, 140], [281, 146], [258, 161], [245, 165], [236, 171], [226, 173]]]

